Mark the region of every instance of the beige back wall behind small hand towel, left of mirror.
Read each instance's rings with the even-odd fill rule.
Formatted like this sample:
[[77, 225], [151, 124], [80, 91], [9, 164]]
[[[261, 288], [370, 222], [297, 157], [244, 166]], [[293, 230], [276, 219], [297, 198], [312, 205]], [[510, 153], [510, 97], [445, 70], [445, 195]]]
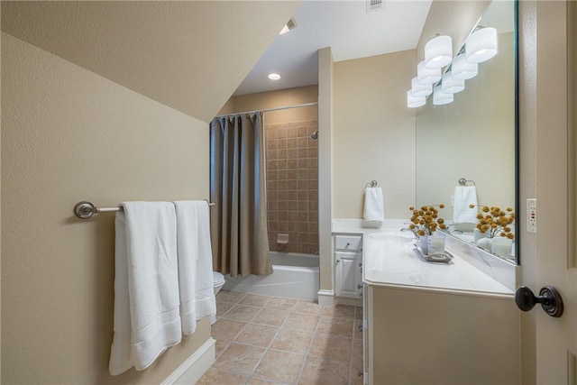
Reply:
[[407, 90], [415, 50], [334, 63], [334, 217], [362, 218], [364, 188], [377, 180], [386, 218], [415, 204], [415, 110]]

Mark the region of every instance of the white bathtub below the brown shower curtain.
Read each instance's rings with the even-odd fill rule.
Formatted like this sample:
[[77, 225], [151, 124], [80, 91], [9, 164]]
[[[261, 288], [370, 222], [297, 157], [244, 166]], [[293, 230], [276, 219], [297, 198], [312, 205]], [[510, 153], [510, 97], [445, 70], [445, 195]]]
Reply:
[[319, 289], [318, 256], [270, 252], [272, 274], [225, 276], [224, 290], [316, 301]]

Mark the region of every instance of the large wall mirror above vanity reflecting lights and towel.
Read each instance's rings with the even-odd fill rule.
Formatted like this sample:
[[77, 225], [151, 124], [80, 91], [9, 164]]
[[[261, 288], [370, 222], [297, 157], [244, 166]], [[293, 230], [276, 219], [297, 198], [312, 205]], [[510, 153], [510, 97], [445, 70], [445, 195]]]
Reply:
[[[474, 185], [480, 206], [511, 207], [517, 215], [516, 20], [515, 1], [492, 1], [472, 32], [495, 28], [497, 55], [479, 63], [478, 75], [465, 81], [453, 103], [433, 105], [429, 96], [417, 110], [417, 206], [443, 203], [440, 216], [449, 224], [460, 179]], [[475, 226], [453, 224], [449, 234], [491, 252], [477, 242]], [[511, 251], [499, 256], [518, 264], [518, 232], [510, 227]]]

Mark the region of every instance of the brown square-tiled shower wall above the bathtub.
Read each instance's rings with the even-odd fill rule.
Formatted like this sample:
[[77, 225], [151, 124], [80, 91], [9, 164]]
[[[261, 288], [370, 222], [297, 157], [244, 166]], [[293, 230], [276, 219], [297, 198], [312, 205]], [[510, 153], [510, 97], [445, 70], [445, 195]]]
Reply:
[[[318, 251], [316, 120], [265, 124], [270, 250]], [[289, 234], [289, 243], [277, 243]]]

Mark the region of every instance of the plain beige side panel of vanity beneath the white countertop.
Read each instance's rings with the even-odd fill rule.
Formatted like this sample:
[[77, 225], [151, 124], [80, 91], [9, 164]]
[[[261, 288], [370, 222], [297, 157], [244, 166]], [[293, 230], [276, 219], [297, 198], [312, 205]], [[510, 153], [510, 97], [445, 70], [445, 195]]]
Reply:
[[366, 285], [365, 384], [519, 384], [510, 296]]

